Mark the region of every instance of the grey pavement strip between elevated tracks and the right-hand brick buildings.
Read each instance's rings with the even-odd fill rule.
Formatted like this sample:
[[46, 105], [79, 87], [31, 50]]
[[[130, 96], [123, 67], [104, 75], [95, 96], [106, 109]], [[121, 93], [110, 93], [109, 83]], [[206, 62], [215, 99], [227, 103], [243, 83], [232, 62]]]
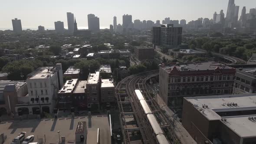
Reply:
[[[159, 95], [158, 105], [162, 110], [166, 112], [168, 118], [170, 118], [170, 120], [173, 121], [174, 112], [167, 107], [167, 105], [164, 103], [163, 99]], [[187, 130], [182, 126], [182, 124], [179, 121], [179, 118], [176, 118], [175, 120], [175, 133], [181, 139], [181, 144], [197, 144], [196, 141], [194, 141], [194, 139], [187, 132]]]

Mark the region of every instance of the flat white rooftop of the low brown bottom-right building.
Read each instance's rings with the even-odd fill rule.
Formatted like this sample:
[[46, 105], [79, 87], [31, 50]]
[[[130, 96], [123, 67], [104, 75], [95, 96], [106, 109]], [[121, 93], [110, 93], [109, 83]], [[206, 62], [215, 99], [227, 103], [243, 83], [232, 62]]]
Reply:
[[[217, 112], [256, 110], [256, 94], [213, 95], [185, 99], [209, 121], [226, 119], [222, 122], [240, 137], [256, 137], [256, 115], [221, 117], [217, 114]], [[255, 119], [249, 120], [249, 117]]]

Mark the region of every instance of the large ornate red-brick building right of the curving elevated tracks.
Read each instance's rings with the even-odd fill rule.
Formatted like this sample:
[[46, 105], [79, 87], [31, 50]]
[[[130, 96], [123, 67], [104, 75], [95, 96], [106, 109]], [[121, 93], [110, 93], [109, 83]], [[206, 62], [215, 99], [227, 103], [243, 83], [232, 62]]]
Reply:
[[217, 62], [161, 64], [159, 95], [171, 107], [181, 107], [183, 97], [232, 94], [236, 69]]

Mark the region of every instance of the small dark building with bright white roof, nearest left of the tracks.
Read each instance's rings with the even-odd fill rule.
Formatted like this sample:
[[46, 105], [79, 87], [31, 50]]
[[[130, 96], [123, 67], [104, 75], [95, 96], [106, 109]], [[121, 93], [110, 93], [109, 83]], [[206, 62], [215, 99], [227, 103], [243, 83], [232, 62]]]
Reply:
[[103, 105], [115, 105], [115, 86], [113, 79], [102, 79], [101, 102]]

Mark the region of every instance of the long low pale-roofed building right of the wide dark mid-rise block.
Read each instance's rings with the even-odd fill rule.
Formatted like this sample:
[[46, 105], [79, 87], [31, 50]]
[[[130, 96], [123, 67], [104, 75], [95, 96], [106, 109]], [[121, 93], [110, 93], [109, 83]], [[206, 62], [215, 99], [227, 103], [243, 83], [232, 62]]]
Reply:
[[194, 50], [194, 49], [180, 49], [178, 51], [174, 51], [173, 49], [170, 49], [169, 54], [171, 56], [174, 56], [175, 58], [180, 59], [183, 56], [192, 56], [192, 55], [202, 57], [205, 55], [205, 52], [200, 52], [200, 51]]

